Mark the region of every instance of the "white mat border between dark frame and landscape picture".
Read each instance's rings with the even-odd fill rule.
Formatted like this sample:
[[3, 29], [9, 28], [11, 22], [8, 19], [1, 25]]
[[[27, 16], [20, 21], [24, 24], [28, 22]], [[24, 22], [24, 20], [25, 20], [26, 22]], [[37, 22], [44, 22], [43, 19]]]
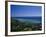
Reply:
[[[42, 31], [10, 32], [10, 5], [42, 6]], [[8, 35], [44, 33], [44, 4], [8, 2]]]

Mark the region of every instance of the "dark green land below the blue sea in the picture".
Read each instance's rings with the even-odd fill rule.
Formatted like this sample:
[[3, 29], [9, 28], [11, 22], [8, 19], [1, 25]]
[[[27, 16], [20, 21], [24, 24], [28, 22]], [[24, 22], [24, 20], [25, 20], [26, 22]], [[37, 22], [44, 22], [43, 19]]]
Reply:
[[41, 30], [41, 23], [22, 22], [11, 19], [11, 32]]

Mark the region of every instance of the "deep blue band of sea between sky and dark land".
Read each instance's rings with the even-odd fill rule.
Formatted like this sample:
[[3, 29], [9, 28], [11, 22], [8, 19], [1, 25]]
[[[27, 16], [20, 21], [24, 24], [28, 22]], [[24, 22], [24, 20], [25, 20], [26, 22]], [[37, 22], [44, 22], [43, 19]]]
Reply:
[[12, 19], [17, 19], [20, 21], [32, 21], [35, 23], [41, 23], [42, 17], [12, 17]]

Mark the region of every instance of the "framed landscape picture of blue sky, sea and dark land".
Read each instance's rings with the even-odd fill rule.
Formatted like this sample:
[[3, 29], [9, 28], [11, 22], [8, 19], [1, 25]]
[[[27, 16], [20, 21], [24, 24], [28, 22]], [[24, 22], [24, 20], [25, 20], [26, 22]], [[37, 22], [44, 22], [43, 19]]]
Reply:
[[42, 7], [10, 5], [11, 32], [41, 31]]

